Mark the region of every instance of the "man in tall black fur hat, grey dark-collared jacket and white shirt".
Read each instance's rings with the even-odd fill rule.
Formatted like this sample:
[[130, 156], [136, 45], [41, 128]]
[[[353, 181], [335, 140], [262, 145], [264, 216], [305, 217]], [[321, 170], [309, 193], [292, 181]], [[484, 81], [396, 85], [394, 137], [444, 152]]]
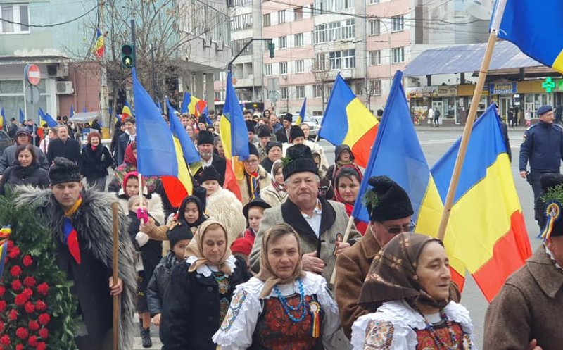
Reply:
[[350, 239], [342, 242], [348, 225], [346, 208], [341, 203], [319, 196], [319, 170], [308, 146], [297, 144], [289, 147], [282, 171], [287, 199], [281, 206], [264, 212], [250, 256], [251, 268], [256, 273], [260, 270], [264, 233], [275, 224], [287, 223], [301, 237], [303, 270], [318, 273], [329, 282], [336, 255], [346, 251], [362, 236], [353, 225]]

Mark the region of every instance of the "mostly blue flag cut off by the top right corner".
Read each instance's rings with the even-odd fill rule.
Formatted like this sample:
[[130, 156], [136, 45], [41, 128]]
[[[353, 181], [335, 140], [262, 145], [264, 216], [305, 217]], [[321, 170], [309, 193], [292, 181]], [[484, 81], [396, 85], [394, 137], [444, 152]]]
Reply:
[[[524, 54], [543, 65], [563, 73], [562, 13], [561, 0], [497, 0], [491, 28], [498, 15], [502, 15], [498, 37], [514, 43]], [[522, 26], [522, 23], [526, 25]]]

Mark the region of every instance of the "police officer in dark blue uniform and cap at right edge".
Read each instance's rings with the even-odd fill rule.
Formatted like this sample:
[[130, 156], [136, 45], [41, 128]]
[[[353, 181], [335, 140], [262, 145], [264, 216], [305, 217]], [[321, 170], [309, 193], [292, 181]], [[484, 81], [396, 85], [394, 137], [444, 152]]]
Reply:
[[541, 175], [559, 174], [563, 159], [563, 127], [553, 123], [553, 108], [541, 106], [538, 108], [538, 115], [540, 122], [524, 132], [524, 142], [520, 146], [520, 176], [525, 179], [528, 175], [526, 165], [529, 161], [529, 182], [532, 185], [534, 201], [541, 192]]

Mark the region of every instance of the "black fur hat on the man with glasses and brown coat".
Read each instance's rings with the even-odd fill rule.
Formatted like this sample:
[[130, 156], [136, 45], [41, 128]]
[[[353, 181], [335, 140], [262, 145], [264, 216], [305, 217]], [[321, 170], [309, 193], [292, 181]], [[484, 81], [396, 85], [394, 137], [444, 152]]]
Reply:
[[407, 192], [397, 182], [382, 175], [369, 177], [368, 183], [373, 186], [364, 196], [369, 220], [396, 220], [415, 213]]

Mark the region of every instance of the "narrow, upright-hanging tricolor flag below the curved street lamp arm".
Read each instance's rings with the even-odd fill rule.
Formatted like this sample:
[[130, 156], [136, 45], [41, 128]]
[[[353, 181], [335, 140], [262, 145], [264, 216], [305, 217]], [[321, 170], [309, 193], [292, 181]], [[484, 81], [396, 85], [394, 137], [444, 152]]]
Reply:
[[239, 106], [239, 99], [237, 99], [236, 92], [234, 92], [232, 75], [229, 72], [227, 75], [227, 95], [224, 101], [223, 116], [219, 124], [224, 156], [227, 159], [223, 187], [233, 192], [240, 200], [242, 198], [241, 189], [236, 180], [241, 180], [244, 173], [243, 166], [238, 161], [238, 158], [248, 158], [248, 132], [242, 110]]

